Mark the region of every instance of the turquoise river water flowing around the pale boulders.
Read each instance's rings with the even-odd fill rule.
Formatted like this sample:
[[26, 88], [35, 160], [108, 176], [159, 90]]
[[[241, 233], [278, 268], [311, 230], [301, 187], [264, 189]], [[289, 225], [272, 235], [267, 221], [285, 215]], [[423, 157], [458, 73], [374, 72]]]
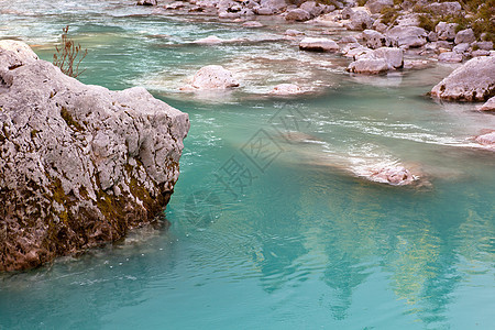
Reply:
[[[189, 113], [169, 227], [1, 275], [0, 329], [492, 327], [494, 154], [466, 138], [494, 129], [495, 117], [422, 97], [452, 67], [350, 77], [345, 59], [290, 41], [190, 44], [275, 38], [274, 26], [148, 16], [128, 4], [0, 1], [0, 37], [38, 45], [50, 61], [70, 24], [89, 50], [84, 82], [144, 85]], [[207, 64], [226, 64], [241, 88], [177, 90]], [[314, 94], [265, 95], [293, 80]], [[350, 175], [380, 162], [406, 164], [430, 185]]]

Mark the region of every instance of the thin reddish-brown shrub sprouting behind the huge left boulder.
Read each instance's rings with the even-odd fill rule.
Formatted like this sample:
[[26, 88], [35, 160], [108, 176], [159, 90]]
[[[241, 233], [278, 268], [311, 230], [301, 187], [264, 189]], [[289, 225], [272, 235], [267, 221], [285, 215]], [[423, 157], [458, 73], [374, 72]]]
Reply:
[[55, 46], [56, 53], [53, 54], [53, 64], [69, 77], [78, 77], [86, 69], [79, 72], [79, 64], [88, 55], [88, 50], [81, 51], [80, 44], [77, 44], [68, 36], [69, 26], [62, 31], [62, 40], [58, 46]]

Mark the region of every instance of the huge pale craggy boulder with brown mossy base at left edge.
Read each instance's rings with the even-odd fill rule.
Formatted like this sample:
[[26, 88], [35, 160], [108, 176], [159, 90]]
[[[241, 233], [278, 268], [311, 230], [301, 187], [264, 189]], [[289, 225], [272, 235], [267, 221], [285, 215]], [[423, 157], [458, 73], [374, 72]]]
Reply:
[[189, 120], [144, 88], [110, 91], [0, 42], [0, 271], [116, 241], [161, 216]]

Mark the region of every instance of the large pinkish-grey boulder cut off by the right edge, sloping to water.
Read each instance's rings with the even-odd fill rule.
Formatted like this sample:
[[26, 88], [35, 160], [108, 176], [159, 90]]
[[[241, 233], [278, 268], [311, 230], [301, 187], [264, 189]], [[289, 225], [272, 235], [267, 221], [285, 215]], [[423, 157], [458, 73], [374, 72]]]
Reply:
[[468, 61], [431, 89], [431, 96], [461, 101], [485, 101], [495, 96], [495, 57]]

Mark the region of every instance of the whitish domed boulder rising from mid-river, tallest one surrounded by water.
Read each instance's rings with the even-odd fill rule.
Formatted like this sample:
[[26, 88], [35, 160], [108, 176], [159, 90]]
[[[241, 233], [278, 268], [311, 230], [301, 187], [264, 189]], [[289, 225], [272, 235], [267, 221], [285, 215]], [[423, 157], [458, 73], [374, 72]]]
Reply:
[[196, 73], [190, 85], [196, 89], [208, 90], [238, 87], [239, 82], [221, 65], [207, 65]]

